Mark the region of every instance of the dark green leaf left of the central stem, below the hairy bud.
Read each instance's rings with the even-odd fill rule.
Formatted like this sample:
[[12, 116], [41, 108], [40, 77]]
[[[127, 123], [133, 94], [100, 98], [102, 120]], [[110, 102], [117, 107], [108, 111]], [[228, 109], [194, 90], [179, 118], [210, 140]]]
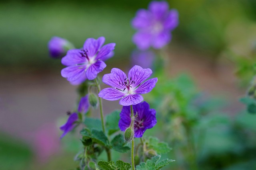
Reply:
[[116, 135], [114, 139], [112, 139], [111, 141], [111, 146], [112, 146], [112, 149], [118, 152], [126, 153], [128, 152], [128, 150], [130, 150], [130, 147], [124, 146], [126, 144], [124, 143], [122, 138], [123, 138], [123, 135], [121, 134]]

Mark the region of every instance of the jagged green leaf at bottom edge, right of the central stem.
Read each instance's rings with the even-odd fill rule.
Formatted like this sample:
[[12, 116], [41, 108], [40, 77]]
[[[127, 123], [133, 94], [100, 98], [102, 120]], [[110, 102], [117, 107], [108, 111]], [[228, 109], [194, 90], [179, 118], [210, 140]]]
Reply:
[[160, 158], [160, 155], [156, 155], [150, 160], [147, 160], [146, 162], [142, 162], [140, 163], [140, 165], [137, 165], [136, 170], [159, 170], [160, 168], [168, 165], [170, 162], [175, 161], [171, 159], [164, 159], [159, 162]]

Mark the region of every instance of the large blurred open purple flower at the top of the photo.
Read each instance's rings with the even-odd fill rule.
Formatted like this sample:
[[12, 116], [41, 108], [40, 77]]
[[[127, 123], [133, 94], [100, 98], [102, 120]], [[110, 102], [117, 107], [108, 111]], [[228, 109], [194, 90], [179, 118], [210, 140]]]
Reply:
[[133, 42], [139, 49], [160, 49], [171, 41], [171, 31], [178, 25], [178, 12], [168, 8], [165, 1], [152, 1], [148, 10], [138, 10], [132, 26], [138, 29]]

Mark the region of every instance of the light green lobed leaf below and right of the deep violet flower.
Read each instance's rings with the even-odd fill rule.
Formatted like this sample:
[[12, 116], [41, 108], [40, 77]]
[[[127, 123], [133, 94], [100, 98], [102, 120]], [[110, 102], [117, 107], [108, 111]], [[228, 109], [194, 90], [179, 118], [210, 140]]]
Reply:
[[148, 149], [153, 149], [157, 152], [157, 154], [165, 154], [172, 150], [165, 142], [159, 142], [156, 137], [148, 138]]

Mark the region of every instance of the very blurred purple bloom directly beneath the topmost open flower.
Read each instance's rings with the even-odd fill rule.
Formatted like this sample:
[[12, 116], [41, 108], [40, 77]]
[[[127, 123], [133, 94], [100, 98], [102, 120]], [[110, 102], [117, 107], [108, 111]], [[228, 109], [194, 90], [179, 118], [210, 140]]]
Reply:
[[140, 65], [142, 68], [152, 68], [155, 55], [152, 51], [132, 52], [132, 65]]

